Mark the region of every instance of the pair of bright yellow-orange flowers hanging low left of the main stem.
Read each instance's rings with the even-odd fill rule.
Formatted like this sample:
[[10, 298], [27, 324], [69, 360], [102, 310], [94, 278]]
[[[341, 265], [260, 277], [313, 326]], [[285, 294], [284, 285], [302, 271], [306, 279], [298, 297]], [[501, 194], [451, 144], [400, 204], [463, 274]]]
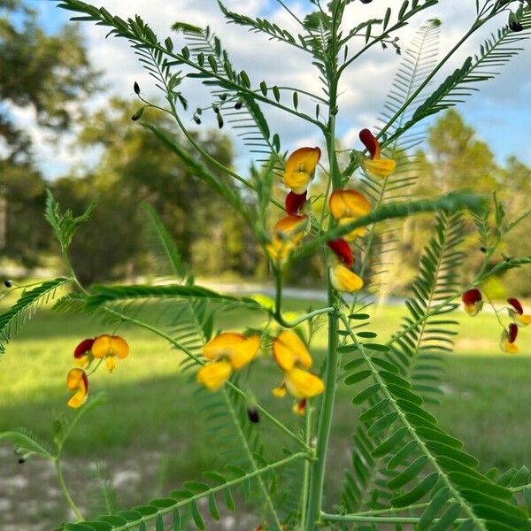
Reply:
[[[274, 396], [285, 396], [286, 391], [297, 399], [294, 411], [304, 414], [306, 401], [320, 395], [324, 383], [319, 376], [310, 373], [312, 356], [304, 342], [293, 332], [282, 331], [273, 338], [273, 359], [281, 368], [281, 385], [273, 389]], [[260, 350], [258, 335], [245, 336], [235, 332], [216, 335], [204, 344], [203, 356], [209, 361], [197, 371], [196, 380], [206, 389], [221, 389], [230, 376], [257, 357]]]

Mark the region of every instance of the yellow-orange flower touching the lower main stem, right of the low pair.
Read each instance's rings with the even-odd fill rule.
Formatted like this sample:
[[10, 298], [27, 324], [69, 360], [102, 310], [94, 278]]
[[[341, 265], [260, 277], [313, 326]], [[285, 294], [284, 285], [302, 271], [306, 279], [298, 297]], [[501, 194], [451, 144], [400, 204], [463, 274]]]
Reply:
[[288, 391], [300, 401], [294, 411], [304, 414], [306, 400], [325, 390], [325, 384], [319, 376], [306, 370], [313, 365], [310, 352], [298, 335], [284, 330], [273, 339], [273, 358], [284, 373], [284, 379], [278, 388], [273, 389], [273, 395], [285, 396]]

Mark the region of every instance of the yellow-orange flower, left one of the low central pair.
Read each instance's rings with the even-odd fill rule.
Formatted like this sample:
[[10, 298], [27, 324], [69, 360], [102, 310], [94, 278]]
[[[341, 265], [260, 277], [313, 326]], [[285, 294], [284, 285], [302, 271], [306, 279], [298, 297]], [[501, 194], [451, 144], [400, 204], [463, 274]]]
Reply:
[[203, 356], [210, 360], [197, 371], [196, 379], [212, 391], [221, 389], [233, 371], [248, 365], [260, 349], [260, 337], [235, 332], [216, 335], [205, 343]]

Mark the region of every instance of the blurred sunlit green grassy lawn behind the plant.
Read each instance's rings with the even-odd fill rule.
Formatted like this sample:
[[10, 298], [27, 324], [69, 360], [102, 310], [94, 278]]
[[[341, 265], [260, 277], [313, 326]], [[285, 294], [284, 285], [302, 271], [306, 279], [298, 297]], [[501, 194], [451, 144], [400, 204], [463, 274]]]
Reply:
[[[287, 309], [300, 311], [304, 305], [289, 302]], [[396, 329], [403, 312], [398, 307], [377, 312], [373, 329], [380, 331], [381, 340]], [[225, 312], [220, 314], [217, 327], [258, 326], [262, 318], [258, 312]], [[480, 458], [484, 469], [529, 466], [531, 329], [522, 330], [522, 353], [511, 357], [498, 351], [500, 330], [494, 315], [482, 313], [471, 319], [458, 312], [457, 319], [461, 322], [460, 335], [457, 354], [447, 359], [446, 396], [442, 404], [429, 409], [451, 434], [466, 441], [466, 449]], [[50, 440], [54, 417], [71, 414], [65, 406], [69, 397], [65, 374], [72, 366], [73, 347], [84, 337], [107, 331], [104, 324], [82, 316], [64, 317], [46, 311], [29, 323], [0, 363], [0, 431], [25, 426]], [[137, 328], [120, 327], [119, 334], [127, 337], [131, 355], [119, 361], [115, 373], [108, 374], [102, 368], [91, 377], [91, 391], [103, 390], [108, 401], [89, 413], [65, 448], [66, 479], [73, 485], [74, 497], [87, 509], [89, 493], [94, 490], [88, 477], [94, 461], [107, 466], [124, 508], [163, 495], [181, 481], [197, 479], [202, 468], [224, 463], [219, 443], [200, 412], [202, 402], [196, 384], [179, 372], [181, 353]], [[324, 345], [324, 335], [319, 334], [314, 343], [317, 358], [324, 356]], [[280, 381], [273, 364], [258, 360], [250, 381], [258, 401], [297, 430], [300, 419], [290, 413], [289, 399], [279, 401], [271, 396], [271, 389]], [[340, 389], [338, 396], [330, 450], [331, 500], [340, 488], [335, 480], [348, 466], [350, 435], [356, 422], [352, 394], [352, 389]], [[269, 456], [280, 456], [282, 447], [289, 445], [266, 421], [258, 425], [258, 431]], [[66, 517], [45, 464], [30, 459], [19, 466], [12, 450], [3, 444], [0, 478], [1, 529], [50, 530]], [[46, 489], [42, 489], [43, 481]], [[22, 509], [21, 499], [32, 502]]]

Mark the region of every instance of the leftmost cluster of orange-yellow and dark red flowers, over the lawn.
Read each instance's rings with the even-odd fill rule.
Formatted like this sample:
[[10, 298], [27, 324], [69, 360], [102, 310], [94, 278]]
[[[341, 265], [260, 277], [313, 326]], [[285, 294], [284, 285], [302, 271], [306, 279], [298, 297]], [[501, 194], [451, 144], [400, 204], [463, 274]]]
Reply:
[[116, 358], [124, 359], [128, 355], [129, 345], [119, 335], [104, 334], [81, 341], [73, 350], [73, 358], [78, 367], [71, 369], [66, 376], [66, 386], [75, 391], [68, 401], [68, 405], [78, 408], [87, 401], [89, 376], [86, 369], [89, 369], [96, 359], [98, 360], [97, 366], [105, 360], [107, 370], [112, 373], [116, 369]]

